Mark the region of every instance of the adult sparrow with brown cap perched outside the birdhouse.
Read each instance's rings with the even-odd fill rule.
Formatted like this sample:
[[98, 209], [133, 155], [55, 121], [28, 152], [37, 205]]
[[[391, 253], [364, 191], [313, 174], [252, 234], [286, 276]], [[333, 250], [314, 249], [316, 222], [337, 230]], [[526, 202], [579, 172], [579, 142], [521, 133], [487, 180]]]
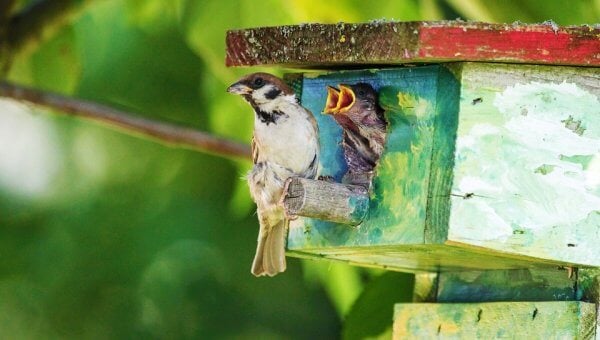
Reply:
[[250, 74], [231, 85], [254, 109], [252, 159], [247, 175], [260, 230], [252, 264], [255, 276], [283, 272], [288, 220], [279, 204], [289, 177], [315, 178], [319, 163], [317, 122], [292, 89], [267, 73]]

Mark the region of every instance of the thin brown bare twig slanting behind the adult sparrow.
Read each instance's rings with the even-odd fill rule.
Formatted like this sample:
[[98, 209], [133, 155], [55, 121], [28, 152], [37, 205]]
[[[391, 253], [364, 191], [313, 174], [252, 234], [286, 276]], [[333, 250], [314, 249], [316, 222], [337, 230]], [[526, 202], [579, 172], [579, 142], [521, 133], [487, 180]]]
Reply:
[[89, 101], [6, 82], [0, 83], [0, 97], [12, 98], [54, 109], [59, 113], [102, 122], [109, 126], [118, 127], [125, 132], [149, 137], [177, 147], [224, 157], [250, 159], [250, 147], [246, 144], [182, 126], [136, 117], [130, 113]]

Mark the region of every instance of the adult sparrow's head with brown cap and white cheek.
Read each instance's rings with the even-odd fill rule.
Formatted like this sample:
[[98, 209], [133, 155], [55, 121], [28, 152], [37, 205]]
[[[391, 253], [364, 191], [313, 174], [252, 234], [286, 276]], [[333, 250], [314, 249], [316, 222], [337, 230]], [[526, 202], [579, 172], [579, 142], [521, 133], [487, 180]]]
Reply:
[[227, 92], [244, 97], [252, 106], [272, 106], [279, 100], [296, 101], [294, 91], [285, 82], [268, 73], [253, 73], [227, 88]]

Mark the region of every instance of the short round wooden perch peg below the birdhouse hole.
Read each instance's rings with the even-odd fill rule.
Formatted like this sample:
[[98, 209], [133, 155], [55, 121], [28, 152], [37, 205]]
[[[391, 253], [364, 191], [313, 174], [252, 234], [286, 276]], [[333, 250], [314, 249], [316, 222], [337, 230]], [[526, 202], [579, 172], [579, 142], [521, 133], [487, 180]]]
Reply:
[[359, 185], [294, 177], [286, 183], [283, 207], [289, 217], [305, 216], [358, 225], [369, 210], [369, 194]]

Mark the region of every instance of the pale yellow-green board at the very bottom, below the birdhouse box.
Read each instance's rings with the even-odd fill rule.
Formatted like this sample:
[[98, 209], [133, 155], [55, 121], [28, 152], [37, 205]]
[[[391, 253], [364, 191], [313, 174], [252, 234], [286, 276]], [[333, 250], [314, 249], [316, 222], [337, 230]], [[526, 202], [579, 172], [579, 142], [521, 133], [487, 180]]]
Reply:
[[577, 301], [401, 303], [393, 339], [593, 339], [595, 320]]

